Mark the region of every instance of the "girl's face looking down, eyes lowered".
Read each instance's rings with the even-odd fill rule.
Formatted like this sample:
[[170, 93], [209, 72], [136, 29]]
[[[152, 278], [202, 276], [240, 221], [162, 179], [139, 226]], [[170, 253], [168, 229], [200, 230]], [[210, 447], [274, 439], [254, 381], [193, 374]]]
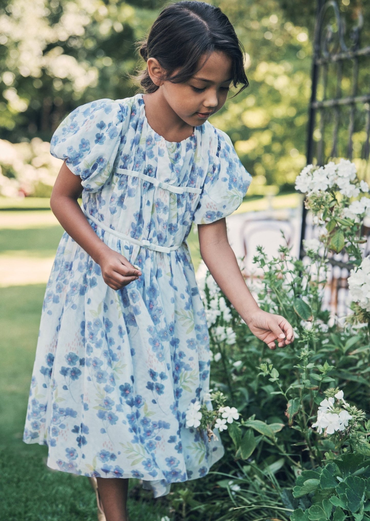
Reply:
[[[205, 59], [206, 56], [202, 56], [200, 63]], [[179, 118], [188, 125], [197, 127], [224, 105], [231, 81], [230, 56], [214, 51], [192, 78], [184, 83], [161, 81], [158, 91], [161, 91], [166, 103]]]

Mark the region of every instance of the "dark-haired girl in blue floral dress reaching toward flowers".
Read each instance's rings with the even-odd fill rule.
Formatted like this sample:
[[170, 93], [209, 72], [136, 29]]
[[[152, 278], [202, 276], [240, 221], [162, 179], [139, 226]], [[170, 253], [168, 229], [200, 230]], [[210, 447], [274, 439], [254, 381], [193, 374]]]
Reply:
[[226, 234], [251, 180], [207, 121], [231, 83], [248, 86], [230, 21], [203, 2], [172, 4], [140, 54], [144, 94], [76, 108], [51, 141], [65, 160], [51, 197], [65, 233], [23, 436], [49, 447], [50, 468], [97, 478], [107, 521], [127, 519], [128, 478], [159, 497], [224, 453], [185, 422], [209, 391], [207, 321], [186, 243], [193, 222], [204, 262], [250, 330], [270, 349], [294, 340], [285, 318], [258, 307]]

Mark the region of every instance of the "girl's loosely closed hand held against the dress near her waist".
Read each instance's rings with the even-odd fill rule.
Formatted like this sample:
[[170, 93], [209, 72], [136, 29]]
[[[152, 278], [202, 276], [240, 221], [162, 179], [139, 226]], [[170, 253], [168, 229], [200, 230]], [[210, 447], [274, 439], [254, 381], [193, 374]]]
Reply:
[[108, 248], [99, 257], [104, 282], [113, 290], [119, 290], [127, 286], [133, 280], [137, 280], [141, 271], [128, 262], [126, 257]]

